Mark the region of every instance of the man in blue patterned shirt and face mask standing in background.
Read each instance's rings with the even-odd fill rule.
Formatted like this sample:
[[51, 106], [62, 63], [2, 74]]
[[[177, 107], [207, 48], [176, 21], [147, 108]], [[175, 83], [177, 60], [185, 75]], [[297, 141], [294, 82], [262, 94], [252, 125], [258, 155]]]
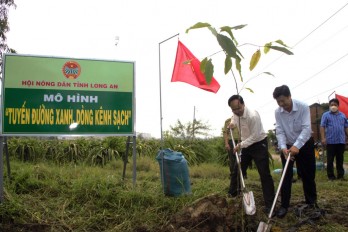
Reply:
[[325, 112], [321, 117], [320, 136], [321, 143], [326, 145], [327, 155], [327, 177], [335, 180], [334, 159], [336, 158], [337, 179], [344, 177], [344, 149], [346, 137], [348, 137], [348, 120], [346, 116], [338, 110], [340, 103], [333, 98], [329, 101], [330, 111]]

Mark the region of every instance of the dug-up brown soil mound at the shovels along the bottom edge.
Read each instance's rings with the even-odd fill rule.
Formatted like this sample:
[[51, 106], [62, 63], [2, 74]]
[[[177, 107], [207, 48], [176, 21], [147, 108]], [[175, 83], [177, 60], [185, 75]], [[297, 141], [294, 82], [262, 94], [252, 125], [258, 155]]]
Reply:
[[[256, 205], [260, 201], [259, 198], [260, 196], [255, 197]], [[201, 198], [191, 206], [173, 215], [169, 223], [164, 228], [159, 228], [158, 231], [251, 232], [257, 231], [260, 222], [268, 223], [273, 232], [325, 231], [325, 229], [320, 228], [330, 223], [339, 224], [348, 229], [347, 202], [342, 202], [339, 205], [325, 204], [323, 206], [325, 210], [323, 208], [309, 209], [299, 202], [296, 207], [289, 209], [284, 219], [275, 217], [268, 222], [268, 215], [263, 213], [262, 208], [257, 209], [257, 213], [254, 215], [246, 215], [241, 199], [241, 197], [226, 198], [219, 195]]]

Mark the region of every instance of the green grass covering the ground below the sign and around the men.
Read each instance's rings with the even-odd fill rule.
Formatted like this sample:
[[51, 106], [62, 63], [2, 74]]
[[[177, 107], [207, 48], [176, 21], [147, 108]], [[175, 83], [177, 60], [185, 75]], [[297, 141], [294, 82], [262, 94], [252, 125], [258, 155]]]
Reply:
[[[275, 168], [278, 167], [280, 164], [276, 162]], [[35, 231], [160, 231], [172, 215], [195, 200], [212, 193], [225, 196], [229, 185], [227, 167], [202, 164], [189, 167], [191, 195], [167, 197], [163, 194], [159, 165], [154, 158], [138, 158], [135, 186], [132, 169], [129, 163], [123, 180], [121, 162], [100, 168], [13, 160], [12, 181], [9, 182], [6, 173], [4, 177], [5, 202], [0, 205], [0, 230], [25, 231], [23, 228], [36, 226]], [[272, 176], [277, 186], [280, 175], [272, 173]], [[315, 224], [315, 230], [347, 231], [347, 223], [341, 220], [347, 218], [348, 182], [328, 182], [325, 171], [317, 172], [316, 181], [318, 203], [327, 210], [328, 217]], [[255, 198], [261, 199], [256, 170], [248, 170], [246, 185]], [[302, 182], [294, 183], [292, 192], [292, 204], [302, 201]], [[340, 218], [335, 219], [337, 210], [340, 210]], [[265, 220], [264, 215], [260, 215], [258, 220]], [[290, 227], [296, 220], [290, 215], [275, 226]], [[311, 230], [313, 226], [307, 231]]]

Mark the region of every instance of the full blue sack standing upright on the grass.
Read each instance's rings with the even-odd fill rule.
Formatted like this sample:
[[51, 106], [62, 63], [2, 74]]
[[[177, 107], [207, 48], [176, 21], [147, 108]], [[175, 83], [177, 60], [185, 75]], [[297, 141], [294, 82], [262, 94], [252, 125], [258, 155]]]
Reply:
[[167, 148], [160, 150], [156, 159], [160, 166], [164, 194], [167, 196], [190, 194], [191, 183], [184, 155]]

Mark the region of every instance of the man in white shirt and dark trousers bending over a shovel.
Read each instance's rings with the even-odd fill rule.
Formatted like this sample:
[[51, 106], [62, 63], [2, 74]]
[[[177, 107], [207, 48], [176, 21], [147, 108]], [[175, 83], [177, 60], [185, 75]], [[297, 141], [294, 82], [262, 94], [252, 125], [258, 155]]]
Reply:
[[[228, 99], [228, 105], [234, 114], [231, 127], [237, 126], [241, 135], [241, 142], [236, 145], [234, 152], [241, 149], [241, 168], [244, 173], [248, 164], [254, 160], [260, 175], [264, 212], [269, 214], [274, 199], [274, 182], [269, 169], [269, 152], [267, 134], [263, 129], [260, 115], [244, 105], [240, 95], [233, 95]], [[237, 178], [237, 175], [232, 178]]]

